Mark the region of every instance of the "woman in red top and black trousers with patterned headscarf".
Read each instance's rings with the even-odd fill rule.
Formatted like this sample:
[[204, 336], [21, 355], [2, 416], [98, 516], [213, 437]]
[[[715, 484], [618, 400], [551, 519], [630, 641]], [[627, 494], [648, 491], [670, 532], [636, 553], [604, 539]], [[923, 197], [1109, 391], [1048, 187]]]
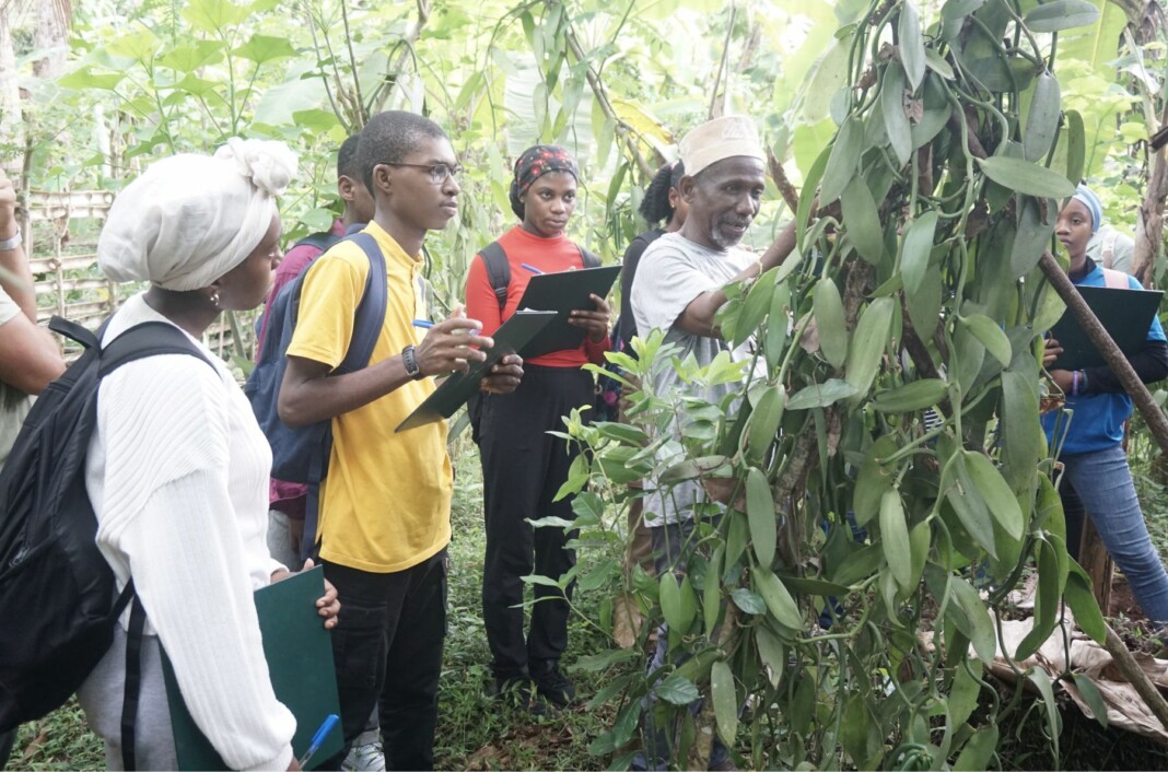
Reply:
[[[466, 313], [491, 335], [515, 313], [528, 267], [555, 273], [584, 267], [580, 249], [564, 234], [576, 208], [576, 161], [563, 147], [537, 145], [515, 162], [512, 210], [521, 223], [499, 237], [510, 281], [500, 310], [482, 256], [471, 263]], [[551, 352], [523, 362], [523, 380], [513, 394], [485, 395], [479, 418], [487, 549], [482, 569], [482, 618], [493, 656], [493, 694], [512, 695], [533, 712], [545, 703], [568, 705], [576, 696], [559, 669], [568, 647], [568, 600], [556, 587], [535, 586], [531, 626], [523, 634], [523, 582], [533, 572], [559, 578], [576, 564], [566, 547], [572, 534], [562, 528], [533, 528], [531, 520], [572, 520], [571, 496], [552, 501], [568, 479], [578, 448], [549, 434], [563, 431], [562, 417], [593, 403], [595, 387], [586, 362], [603, 363], [609, 350], [604, 298], [591, 295], [595, 310], [573, 311], [571, 324], [585, 331], [578, 348]], [[588, 413], [585, 413], [586, 416]]]

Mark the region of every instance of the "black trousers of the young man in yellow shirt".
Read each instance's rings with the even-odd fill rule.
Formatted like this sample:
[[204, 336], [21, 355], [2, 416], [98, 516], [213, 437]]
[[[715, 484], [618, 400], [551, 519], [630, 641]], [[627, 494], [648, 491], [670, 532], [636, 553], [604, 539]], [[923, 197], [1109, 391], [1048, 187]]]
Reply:
[[446, 550], [394, 573], [324, 565], [341, 601], [333, 661], [345, 750], [321, 767], [341, 768], [376, 707], [385, 768], [432, 770], [446, 637]]

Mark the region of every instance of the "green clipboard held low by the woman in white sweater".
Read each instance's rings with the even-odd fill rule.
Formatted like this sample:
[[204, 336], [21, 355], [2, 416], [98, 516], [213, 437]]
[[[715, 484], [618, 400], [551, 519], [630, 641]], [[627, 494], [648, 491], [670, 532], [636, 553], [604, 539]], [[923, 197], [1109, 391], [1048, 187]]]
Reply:
[[[312, 736], [329, 714], [340, 715], [333, 640], [317, 613], [317, 600], [325, 594], [325, 570], [317, 566], [256, 590], [256, 612], [264, 638], [264, 656], [276, 698], [296, 716], [292, 751], [301, 758]], [[224, 652], [224, 656], [229, 656]], [[180, 770], [225, 770], [210, 742], [195, 725], [179, 693], [171, 660], [162, 653], [162, 673], [171, 704], [171, 724]], [[308, 760], [307, 768], [341, 752], [345, 739], [340, 725], [333, 730]]]

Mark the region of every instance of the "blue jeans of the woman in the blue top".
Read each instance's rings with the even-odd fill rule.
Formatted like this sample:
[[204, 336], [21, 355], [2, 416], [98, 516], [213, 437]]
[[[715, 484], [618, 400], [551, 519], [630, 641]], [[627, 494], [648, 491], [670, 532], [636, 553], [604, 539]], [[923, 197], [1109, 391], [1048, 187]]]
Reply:
[[[1064, 455], [1062, 461], [1063, 486], [1070, 482], [1075, 488], [1107, 554], [1127, 577], [1140, 608], [1157, 626], [1168, 624], [1168, 573], [1152, 547], [1127, 467], [1127, 453], [1115, 445]], [[1072, 556], [1078, 552], [1082, 526], [1082, 510], [1068, 507], [1066, 534]]]

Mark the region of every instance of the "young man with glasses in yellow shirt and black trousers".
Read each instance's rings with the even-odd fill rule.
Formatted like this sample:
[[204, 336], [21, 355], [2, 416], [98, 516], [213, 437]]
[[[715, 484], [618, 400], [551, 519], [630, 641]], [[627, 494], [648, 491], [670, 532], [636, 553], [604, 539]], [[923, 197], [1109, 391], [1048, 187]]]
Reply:
[[[369, 367], [329, 376], [348, 350], [369, 262], [348, 242], [318, 258], [301, 291], [279, 412], [292, 426], [333, 422], [317, 550], [345, 608], [333, 654], [346, 746], [380, 705], [387, 768], [429, 770], [453, 475], [445, 422], [401, 434], [394, 427], [433, 392], [427, 376], [465, 370], [492, 340], [459, 312], [429, 331], [412, 324], [429, 315], [422, 242], [458, 213], [460, 168], [445, 133], [420, 116], [383, 112], [362, 130], [357, 157], [376, 201], [364, 232], [385, 258], [385, 322]], [[482, 389], [513, 391], [521, 364], [505, 357]]]

